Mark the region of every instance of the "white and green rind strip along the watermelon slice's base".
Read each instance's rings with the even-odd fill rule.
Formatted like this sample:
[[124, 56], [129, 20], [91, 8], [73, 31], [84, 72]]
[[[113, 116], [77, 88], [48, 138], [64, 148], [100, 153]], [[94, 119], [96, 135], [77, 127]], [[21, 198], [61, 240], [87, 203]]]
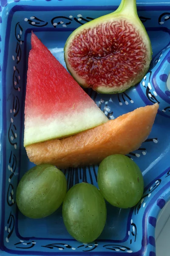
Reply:
[[[34, 113], [33, 113], [34, 115]], [[43, 116], [25, 119], [24, 146], [45, 140], [62, 139], [94, 128], [108, 121], [97, 107], [90, 106], [82, 112], [68, 110], [66, 115], [56, 115], [48, 119]]]

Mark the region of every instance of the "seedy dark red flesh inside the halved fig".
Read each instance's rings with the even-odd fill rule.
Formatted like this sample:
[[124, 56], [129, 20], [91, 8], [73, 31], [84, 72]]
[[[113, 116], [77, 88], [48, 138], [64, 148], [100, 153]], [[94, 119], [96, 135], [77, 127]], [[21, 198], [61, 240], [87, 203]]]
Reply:
[[101, 23], [76, 35], [68, 62], [88, 87], [133, 82], [146, 67], [147, 48], [139, 31], [127, 20]]

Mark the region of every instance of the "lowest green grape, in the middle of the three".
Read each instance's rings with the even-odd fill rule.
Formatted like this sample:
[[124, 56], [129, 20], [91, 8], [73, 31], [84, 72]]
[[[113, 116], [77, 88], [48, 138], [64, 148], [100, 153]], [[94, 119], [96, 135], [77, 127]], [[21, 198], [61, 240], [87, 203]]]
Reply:
[[90, 243], [99, 237], [105, 227], [105, 200], [94, 185], [79, 183], [65, 196], [62, 218], [74, 239]]

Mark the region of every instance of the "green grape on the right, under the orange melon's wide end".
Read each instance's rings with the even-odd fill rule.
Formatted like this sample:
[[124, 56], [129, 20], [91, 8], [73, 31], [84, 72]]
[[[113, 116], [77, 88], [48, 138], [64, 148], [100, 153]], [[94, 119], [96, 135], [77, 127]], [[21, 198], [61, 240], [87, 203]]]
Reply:
[[142, 172], [133, 160], [121, 154], [100, 163], [97, 181], [105, 200], [119, 208], [135, 206], [143, 195]]

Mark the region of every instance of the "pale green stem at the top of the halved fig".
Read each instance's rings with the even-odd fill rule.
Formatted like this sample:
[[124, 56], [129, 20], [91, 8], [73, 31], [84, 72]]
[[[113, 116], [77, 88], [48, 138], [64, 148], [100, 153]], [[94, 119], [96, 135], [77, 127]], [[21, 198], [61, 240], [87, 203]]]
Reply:
[[136, 16], [137, 15], [136, 0], [122, 0], [116, 12], [121, 12], [121, 14]]

